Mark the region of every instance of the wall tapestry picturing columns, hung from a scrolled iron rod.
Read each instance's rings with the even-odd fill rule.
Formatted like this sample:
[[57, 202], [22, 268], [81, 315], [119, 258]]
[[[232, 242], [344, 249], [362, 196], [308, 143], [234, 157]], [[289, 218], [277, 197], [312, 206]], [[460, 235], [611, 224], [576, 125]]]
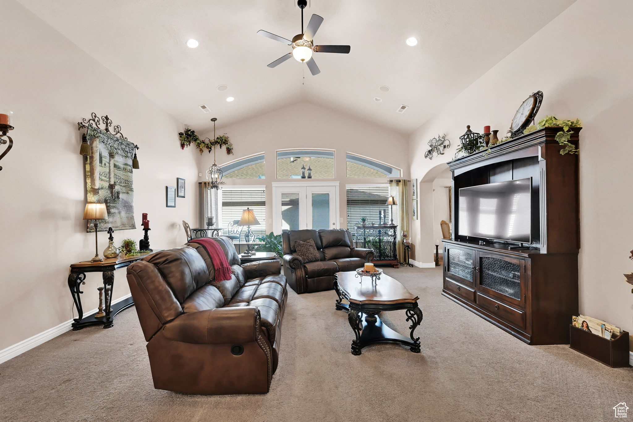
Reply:
[[[86, 128], [90, 145], [90, 155], [85, 156], [87, 201], [104, 202], [108, 208], [108, 220], [99, 221], [99, 232], [108, 227], [114, 230], [136, 228], [132, 187], [135, 145], [99, 128]], [[88, 232], [94, 232], [93, 225], [88, 225]]]

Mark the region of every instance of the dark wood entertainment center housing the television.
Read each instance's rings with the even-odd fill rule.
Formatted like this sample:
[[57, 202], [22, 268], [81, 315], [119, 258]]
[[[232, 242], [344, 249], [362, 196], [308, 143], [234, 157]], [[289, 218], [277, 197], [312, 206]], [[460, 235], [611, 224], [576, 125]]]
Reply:
[[[570, 142], [577, 145], [581, 128]], [[578, 314], [578, 156], [561, 155], [542, 128], [449, 161], [453, 179], [453, 239], [444, 239], [442, 295], [528, 344], [569, 344]], [[496, 242], [460, 233], [459, 190], [532, 178], [532, 243]]]

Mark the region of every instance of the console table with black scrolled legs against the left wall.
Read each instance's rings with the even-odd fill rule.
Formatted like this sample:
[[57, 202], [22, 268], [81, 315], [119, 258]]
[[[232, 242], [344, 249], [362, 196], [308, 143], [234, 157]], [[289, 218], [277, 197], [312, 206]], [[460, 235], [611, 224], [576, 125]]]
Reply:
[[[81, 330], [85, 326], [89, 325], [103, 325], [103, 328], [110, 328], [113, 326], [115, 315], [123, 311], [123, 309], [127, 309], [128, 307], [134, 305], [132, 297], [128, 297], [127, 299], [116, 303], [115, 306], [111, 306], [112, 292], [115, 283], [115, 270], [125, 268], [131, 263], [139, 261], [139, 259], [152, 253], [154, 252], [130, 256], [129, 258], [119, 255], [117, 258], [104, 258], [103, 261], [99, 263], [82, 261], [80, 263], [70, 264], [68, 288], [70, 289], [70, 294], [73, 297], [73, 302], [75, 302], [75, 307], [77, 307], [78, 314], [78, 318], [73, 318], [73, 331]], [[80, 287], [82, 284], [85, 284], [85, 273], [101, 273], [103, 276], [103, 292], [105, 294], [105, 304], [103, 309], [103, 312], [105, 313], [104, 316], [95, 316], [99, 313], [99, 311], [97, 311], [96, 313], [84, 318], [84, 309], [81, 304], [81, 294], [84, 292], [80, 290]]]

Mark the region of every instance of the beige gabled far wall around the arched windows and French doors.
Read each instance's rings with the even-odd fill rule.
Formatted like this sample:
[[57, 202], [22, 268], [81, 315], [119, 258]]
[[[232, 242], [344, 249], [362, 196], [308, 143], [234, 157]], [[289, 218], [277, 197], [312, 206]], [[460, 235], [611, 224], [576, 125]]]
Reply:
[[[218, 120], [218, 123], [220, 121]], [[408, 178], [408, 139], [405, 135], [358, 120], [311, 102], [299, 102], [293, 106], [271, 111], [252, 119], [222, 127], [216, 134], [227, 133], [234, 146], [234, 155], [218, 152], [217, 163], [222, 165], [234, 159], [258, 152], [266, 154], [266, 179], [225, 179], [227, 185], [265, 185], [266, 215], [272, 215], [272, 182], [306, 182], [305, 179], [277, 179], [275, 177], [275, 151], [277, 149], [335, 149], [334, 178], [315, 179], [313, 182], [339, 182], [339, 209], [343, 219], [339, 227], [347, 226], [346, 184], [385, 183], [386, 177], [346, 178], [346, 153], [367, 156], [403, 169]], [[204, 133], [213, 137], [213, 131]], [[201, 173], [213, 164], [213, 154], [205, 152], [199, 158]], [[205, 176], [206, 177], [206, 176]], [[200, 178], [206, 180], [206, 178]], [[266, 232], [272, 232], [272, 218], [266, 220]]]

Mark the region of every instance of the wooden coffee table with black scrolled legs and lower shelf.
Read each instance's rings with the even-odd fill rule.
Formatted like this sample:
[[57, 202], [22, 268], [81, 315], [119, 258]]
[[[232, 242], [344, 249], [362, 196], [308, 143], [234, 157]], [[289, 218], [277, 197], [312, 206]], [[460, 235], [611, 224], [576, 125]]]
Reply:
[[[398, 280], [386, 274], [375, 284], [369, 277], [356, 277], [356, 271], [334, 275], [334, 289], [339, 299], [336, 309], [348, 313], [356, 339], [352, 341], [352, 354], [360, 355], [361, 349], [375, 343], [397, 343], [409, 346], [411, 352], [420, 353], [420, 337], [413, 337], [415, 328], [422, 322], [418, 307], [419, 297], [411, 294]], [[347, 302], [347, 303], [345, 303]], [[382, 311], [404, 309], [406, 321], [411, 321], [410, 338], [384, 325], [377, 316]]]

